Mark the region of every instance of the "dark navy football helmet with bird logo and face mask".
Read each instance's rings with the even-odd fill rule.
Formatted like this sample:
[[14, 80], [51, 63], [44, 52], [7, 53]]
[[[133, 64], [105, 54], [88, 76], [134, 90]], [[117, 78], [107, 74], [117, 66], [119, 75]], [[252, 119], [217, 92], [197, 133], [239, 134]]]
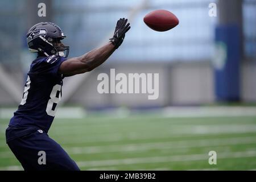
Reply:
[[[66, 36], [55, 23], [41, 22], [35, 24], [27, 33], [27, 45], [30, 52], [40, 52], [46, 56], [59, 55], [68, 57], [69, 46], [56, 46]], [[64, 51], [67, 51], [64, 54]]]

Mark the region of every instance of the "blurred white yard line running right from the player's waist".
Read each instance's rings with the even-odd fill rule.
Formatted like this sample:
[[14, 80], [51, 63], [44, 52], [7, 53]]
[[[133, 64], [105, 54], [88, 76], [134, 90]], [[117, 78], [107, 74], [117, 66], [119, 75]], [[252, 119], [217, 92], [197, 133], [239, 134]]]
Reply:
[[[74, 144], [74, 143], [95, 143], [95, 142], [118, 142], [122, 140], [144, 140], [144, 139], [163, 139], [163, 138], [173, 138], [173, 137], [180, 137], [181, 135], [184, 135], [185, 137], [188, 135], [212, 135], [212, 134], [243, 134], [243, 133], [256, 133], [256, 125], [212, 125], [212, 126], [205, 126], [205, 125], [196, 125], [196, 126], [187, 126], [187, 127], [178, 127], [170, 129], [170, 134], [163, 134], [163, 133], [151, 133], [151, 134], [142, 134], [142, 133], [128, 133], [126, 135], [123, 135], [121, 133], [119, 134], [101, 134], [101, 135], [95, 135], [92, 137], [92, 135], [89, 135], [86, 137], [84, 134], [81, 135], [75, 135], [78, 138], [75, 138], [73, 135], [73, 138], [68, 137], [69, 135], [65, 135], [67, 137], [62, 144]], [[59, 137], [61, 136], [51, 136], [53, 139], [59, 140]], [[63, 133], [64, 135], [64, 133]], [[0, 147], [7, 146], [6, 140], [0, 140]]]

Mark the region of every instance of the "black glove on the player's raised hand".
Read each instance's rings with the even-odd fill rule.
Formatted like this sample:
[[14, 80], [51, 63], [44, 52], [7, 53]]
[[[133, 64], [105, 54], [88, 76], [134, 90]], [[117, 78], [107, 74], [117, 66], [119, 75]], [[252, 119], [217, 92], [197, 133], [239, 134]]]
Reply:
[[115, 26], [115, 32], [113, 38], [109, 39], [110, 42], [115, 46], [117, 49], [121, 46], [123, 39], [125, 39], [125, 33], [130, 30], [130, 23], [127, 23], [127, 19], [120, 18], [117, 21], [117, 26]]

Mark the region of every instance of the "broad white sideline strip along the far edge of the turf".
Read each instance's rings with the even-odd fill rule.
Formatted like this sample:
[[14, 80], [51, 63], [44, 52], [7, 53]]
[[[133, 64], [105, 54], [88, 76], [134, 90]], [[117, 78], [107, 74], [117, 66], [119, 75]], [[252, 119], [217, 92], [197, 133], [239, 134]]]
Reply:
[[[0, 109], [0, 118], [10, 119], [17, 108]], [[109, 115], [116, 115], [117, 109], [110, 111]], [[75, 114], [74, 114], [75, 113]], [[191, 118], [191, 117], [237, 117], [256, 116], [256, 107], [253, 106], [203, 106], [203, 107], [165, 107], [156, 109], [150, 113], [163, 114], [167, 118]], [[58, 118], [84, 118], [86, 111], [81, 107], [60, 107], [57, 111]], [[127, 113], [123, 117], [129, 117]], [[120, 115], [121, 117], [121, 115]]]

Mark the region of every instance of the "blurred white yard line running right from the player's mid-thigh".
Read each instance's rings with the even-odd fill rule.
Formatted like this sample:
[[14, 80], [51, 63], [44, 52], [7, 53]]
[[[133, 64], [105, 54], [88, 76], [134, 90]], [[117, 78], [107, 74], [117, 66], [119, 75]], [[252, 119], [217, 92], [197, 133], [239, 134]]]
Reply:
[[[166, 150], [177, 148], [195, 148], [195, 147], [220, 147], [234, 146], [237, 144], [256, 143], [256, 137], [241, 138], [220, 138], [220, 139], [198, 139], [198, 140], [180, 140], [174, 142], [152, 142], [137, 144], [115, 144], [111, 146], [91, 146], [91, 147], [65, 147], [68, 154], [100, 154], [106, 152], [136, 152], [149, 150]], [[256, 151], [256, 150], [251, 150]], [[10, 158], [13, 154], [10, 151], [0, 152], [0, 158]]]

